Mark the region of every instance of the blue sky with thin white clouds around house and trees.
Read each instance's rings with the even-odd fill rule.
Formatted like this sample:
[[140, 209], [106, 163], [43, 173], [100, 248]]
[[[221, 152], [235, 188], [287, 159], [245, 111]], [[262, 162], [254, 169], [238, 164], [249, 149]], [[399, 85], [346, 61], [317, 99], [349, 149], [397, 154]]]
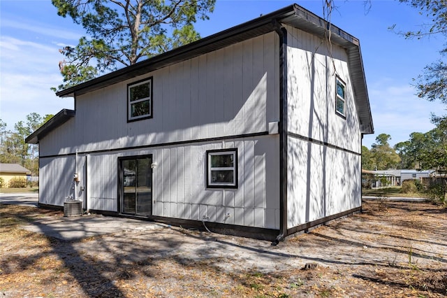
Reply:
[[[242, 22], [291, 5], [293, 1], [217, 0], [210, 20], [196, 29], [205, 37]], [[297, 1], [316, 15], [323, 2]], [[411, 132], [427, 132], [434, 126], [430, 113], [445, 113], [445, 106], [418, 99], [412, 79], [424, 66], [439, 58], [443, 36], [406, 40], [388, 28], [418, 29], [428, 20], [418, 10], [398, 1], [335, 1], [332, 23], [360, 39], [369, 101], [376, 134], [363, 144], [370, 148], [378, 134], [390, 134], [391, 145], [409, 139]], [[51, 1], [0, 0], [0, 118], [8, 129], [26, 120], [29, 113], [55, 114], [73, 108], [73, 99], [61, 99], [50, 87], [61, 83], [59, 48], [75, 45], [84, 34], [70, 18], [57, 15]]]

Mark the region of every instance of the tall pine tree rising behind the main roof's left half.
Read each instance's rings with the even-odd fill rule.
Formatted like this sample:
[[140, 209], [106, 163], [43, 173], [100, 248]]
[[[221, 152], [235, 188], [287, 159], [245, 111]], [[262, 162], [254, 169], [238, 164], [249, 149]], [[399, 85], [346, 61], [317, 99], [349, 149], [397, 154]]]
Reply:
[[89, 35], [60, 50], [64, 84], [58, 89], [196, 41], [193, 23], [207, 20], [215, 1], [52, 0], [58, 15], [71, 17]]

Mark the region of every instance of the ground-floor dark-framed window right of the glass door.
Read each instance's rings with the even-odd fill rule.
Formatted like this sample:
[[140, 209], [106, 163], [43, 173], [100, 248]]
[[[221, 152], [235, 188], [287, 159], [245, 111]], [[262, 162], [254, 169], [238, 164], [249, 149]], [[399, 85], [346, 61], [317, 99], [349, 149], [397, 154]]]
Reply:
[[237, 188], [237, 149], [207, 151], [207, 187]]

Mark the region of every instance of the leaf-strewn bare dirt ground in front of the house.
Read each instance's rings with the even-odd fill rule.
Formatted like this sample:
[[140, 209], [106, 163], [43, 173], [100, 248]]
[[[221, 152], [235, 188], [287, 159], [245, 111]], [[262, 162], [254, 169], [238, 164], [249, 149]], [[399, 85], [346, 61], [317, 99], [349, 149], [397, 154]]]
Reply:
[[447, 211], [430, 203], [364, 201], [278, 246], [181, 227], [61, 241], [23, 227], [63, 213], [0, 208], [2, 297], [447, 295]]

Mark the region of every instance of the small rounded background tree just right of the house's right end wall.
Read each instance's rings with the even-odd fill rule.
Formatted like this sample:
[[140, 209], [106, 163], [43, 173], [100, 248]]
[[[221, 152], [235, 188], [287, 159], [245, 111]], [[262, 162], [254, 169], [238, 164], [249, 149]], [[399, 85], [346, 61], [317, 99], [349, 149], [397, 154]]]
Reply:
[[370, 152], [375, 170], [397, 169], [399, 166], [400, 157], [390, 147], [388, 143], [390, 139], [389, 134], [379, 134], [379, 136], [376, 136], [376, 143], [371, 146]]

